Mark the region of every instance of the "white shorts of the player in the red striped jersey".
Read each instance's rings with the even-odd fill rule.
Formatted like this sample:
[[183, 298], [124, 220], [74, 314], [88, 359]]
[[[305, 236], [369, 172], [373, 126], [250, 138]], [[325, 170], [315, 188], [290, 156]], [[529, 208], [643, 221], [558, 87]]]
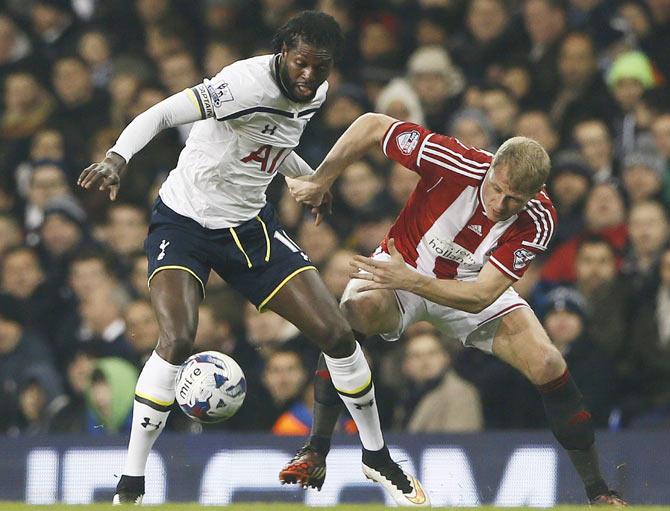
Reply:
[[[390, 256], [379, 252], [373, 256], [378, 261], [387, 261]], [[409, 291], [395, 290], [400, 323], [392, 332], [381, 334], [387, 341], [397, 341], [410, 325], [419, 321], [428, 321], [445, 336], [457, 339], [464, 346], [492, 352], [493, 338], [498, 331], [500, 320], [509, 312], [520, 307], [528, 307], [528, 302], [509, 287], [486, 309], [476, 314], [438, 305]]]

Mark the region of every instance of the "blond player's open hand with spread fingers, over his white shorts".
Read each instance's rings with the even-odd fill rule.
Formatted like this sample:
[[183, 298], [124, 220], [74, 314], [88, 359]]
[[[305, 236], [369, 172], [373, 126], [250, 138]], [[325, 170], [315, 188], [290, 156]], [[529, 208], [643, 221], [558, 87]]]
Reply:
[[417, 280], [417, 273], [407, 268], [405, 260], [395, 248], [395, 242], [390, 239], [387, 248], [391, 259], [388, 261], [375, 261], [370, 257], [354, 256], [350, 266], [356, 269], [349, 276], [352, 279], [367, 280], [368, 284], [360, 288], [360, 291], [372, 289], [405, 289], [411, 291]]

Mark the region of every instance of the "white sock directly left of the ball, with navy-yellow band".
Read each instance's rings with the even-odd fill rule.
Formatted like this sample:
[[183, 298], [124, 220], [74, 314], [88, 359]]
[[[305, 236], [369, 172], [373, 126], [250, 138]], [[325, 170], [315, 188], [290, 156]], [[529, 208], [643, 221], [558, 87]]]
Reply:
[[143, 476], [149, 451], [161, 434], [174, 402], [179, 366], [163, 360], [155, 351], [149, 357], [135, 386], [133, 422], [123, 474]]

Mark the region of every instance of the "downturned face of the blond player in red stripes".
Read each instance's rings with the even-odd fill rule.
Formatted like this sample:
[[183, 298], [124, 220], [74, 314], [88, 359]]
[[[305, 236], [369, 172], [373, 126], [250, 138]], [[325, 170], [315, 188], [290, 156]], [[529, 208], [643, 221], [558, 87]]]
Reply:
[[507, 169], [499, 165], [491, 167], [482, 184], [484, 213], [489, 220], [501, 222], [516, 215], [535, 195], [513, 190], [507, 177]]

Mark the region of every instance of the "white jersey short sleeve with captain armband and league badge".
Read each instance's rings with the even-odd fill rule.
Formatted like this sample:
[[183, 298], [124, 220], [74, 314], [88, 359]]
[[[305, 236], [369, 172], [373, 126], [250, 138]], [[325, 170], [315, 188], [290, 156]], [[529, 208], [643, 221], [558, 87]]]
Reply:
[[239, 117], [244, 110], [258, 106], [255, 91], [259, 88], [250, 86], [253, 81], [243, 63], [235, 62], [187, 91], [198, 105], [201, 119], [214, 117], [223, 121]]

